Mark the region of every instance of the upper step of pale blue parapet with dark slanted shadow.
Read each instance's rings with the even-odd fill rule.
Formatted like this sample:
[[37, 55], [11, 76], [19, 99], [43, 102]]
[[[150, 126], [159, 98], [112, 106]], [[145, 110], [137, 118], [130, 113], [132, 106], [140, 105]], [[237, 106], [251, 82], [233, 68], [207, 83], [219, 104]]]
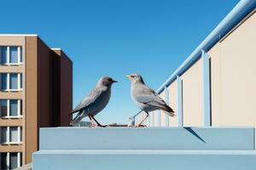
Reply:
[[253, 150], [250, 127], [49, 127], [39, 150]]

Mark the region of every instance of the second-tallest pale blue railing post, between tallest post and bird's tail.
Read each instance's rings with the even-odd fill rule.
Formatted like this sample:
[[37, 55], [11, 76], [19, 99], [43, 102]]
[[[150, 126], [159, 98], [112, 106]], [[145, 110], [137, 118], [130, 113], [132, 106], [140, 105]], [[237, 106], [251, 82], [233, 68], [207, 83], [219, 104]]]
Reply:
[[183, 126], [183, 80], [177, 76], [177, 126]]

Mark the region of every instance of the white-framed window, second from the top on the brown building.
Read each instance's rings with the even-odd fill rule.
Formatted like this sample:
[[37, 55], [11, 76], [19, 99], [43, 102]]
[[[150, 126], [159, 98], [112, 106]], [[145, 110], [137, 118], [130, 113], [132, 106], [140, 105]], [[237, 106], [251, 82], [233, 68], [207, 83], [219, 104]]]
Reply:
[[0, 74], [0, 81], [2, 91], [22, 90], [22, 74], [20, 73], [2, 73]]

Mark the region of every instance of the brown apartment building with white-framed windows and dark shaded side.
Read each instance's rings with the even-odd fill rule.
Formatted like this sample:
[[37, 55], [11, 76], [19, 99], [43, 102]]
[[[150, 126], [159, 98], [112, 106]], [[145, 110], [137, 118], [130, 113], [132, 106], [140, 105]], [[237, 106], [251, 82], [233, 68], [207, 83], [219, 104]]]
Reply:
[[73, 63], [37, 35], [0, 35], [0, 162], [13, 169], [32, 161], [39, 127], [68, 126]]

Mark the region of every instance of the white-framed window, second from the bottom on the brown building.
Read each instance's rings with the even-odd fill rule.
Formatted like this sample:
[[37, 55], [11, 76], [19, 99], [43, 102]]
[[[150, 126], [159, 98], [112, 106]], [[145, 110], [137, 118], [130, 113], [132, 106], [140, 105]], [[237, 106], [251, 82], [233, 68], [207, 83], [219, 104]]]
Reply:
[[0, 127], [1, 144], [21, 144], [22, 127]]

